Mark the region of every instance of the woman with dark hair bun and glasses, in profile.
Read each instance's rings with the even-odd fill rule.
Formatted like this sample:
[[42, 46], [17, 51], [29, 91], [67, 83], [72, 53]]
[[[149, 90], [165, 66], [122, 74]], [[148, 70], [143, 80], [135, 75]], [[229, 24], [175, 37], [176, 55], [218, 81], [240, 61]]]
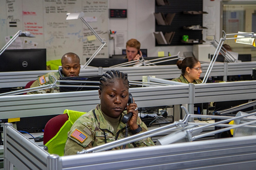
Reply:
[[181, 70], [181, 75], [172, 81], [182, 83], [200, 84], [200, 74], [202, 73], [201, 63], [195, 57], [186, 57], [183, 61], [178, 60], [177, 66]]

